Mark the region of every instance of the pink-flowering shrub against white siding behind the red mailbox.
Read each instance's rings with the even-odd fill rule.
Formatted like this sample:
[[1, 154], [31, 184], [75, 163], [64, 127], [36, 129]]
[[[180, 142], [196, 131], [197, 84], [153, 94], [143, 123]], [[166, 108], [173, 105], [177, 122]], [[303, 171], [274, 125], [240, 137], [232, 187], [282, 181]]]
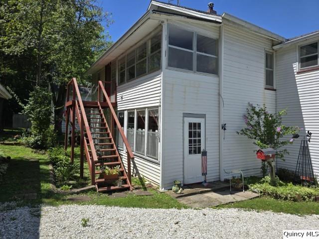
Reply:
[[283, 137], [299, 132], [300, 128], [282, 125], [282, 117], [287, 114], [286, 110], [271, 114], [265, 105], [263, 107], [250, 103], [248, 105], [247, 114], [244, 115], [246, 126], [237, 133], [253, 139], [253, 143], [260, 149], [275, 149], [276, 157], [284, 160], [284, 155], [289, 154], [289, 152], [283, 146], [293, 143], [294, 139], [287, 140]]

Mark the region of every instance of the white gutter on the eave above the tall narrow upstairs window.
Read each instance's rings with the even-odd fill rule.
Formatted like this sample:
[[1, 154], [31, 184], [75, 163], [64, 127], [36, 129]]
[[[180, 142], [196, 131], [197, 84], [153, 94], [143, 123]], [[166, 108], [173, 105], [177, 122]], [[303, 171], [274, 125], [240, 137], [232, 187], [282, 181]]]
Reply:
[[231, 15], [229, 13], [224, 12], [222, 14], [222, 18], [225, 18], [227, 20], [233, 21], [233, 22], [235, 22], [235, 23], [237, 23], [237, 24], [239, 24], [239, 25], [241, 25], [243, 27], [248, 28], [249, 30], [251, 30], [251, 31], [253, 31], [253, 32], [257, 33], [257, 34], [266, 36], [266, 37], [268, 37], [268, 38], [270, 38], [272, 40], [276, 40], [276, 41], [285, 41], [286, 40], [285, 37], [282, 37], [282, 36], [280, 36], [280, 35], [278, 35], [278, 34], [276, 34], [274, 32], [268, 31], [268, 30], [266, 30], [266, 29], [264, 29], [264, 28], [262, 28], [260, 26], [257, 26], [255, 24], [252, 24], [252, 23], [248, 22], [248, 21], [240, 19], [240, 18], [238, 18], [236, 16], [233, 16], [233, 15]]

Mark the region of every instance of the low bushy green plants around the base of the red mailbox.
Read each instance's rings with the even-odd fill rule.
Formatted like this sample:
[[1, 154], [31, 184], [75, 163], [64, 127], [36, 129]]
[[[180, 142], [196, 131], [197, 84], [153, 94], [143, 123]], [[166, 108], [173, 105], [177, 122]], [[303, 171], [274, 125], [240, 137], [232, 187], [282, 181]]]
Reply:
[[270, 177], [265, 177], [260, 183], [249, 185], [250, 191], [260, 193], [264, 196], [270, 196], [275, 199], [289, 201], [314, 201], [319, 196], [318, 188], [309, 188], [292, 183], [283, 183], [276, 177], [278, 186], [270, 185]]

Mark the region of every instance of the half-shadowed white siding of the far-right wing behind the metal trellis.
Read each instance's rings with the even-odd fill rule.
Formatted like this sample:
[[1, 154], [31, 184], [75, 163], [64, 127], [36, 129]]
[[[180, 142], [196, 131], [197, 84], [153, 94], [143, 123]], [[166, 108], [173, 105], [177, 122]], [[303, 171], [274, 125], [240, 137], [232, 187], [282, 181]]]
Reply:
[[277, 51], [277, 110], [287, 109], [283, 124], [297, 125], [303, 130], [293, 144], [287, 145], [289, 155], [285, 161], [278, 161], [277, 168], [296, 170], [300, 143], [306, 132], [312, 134], [309, 142], [310, 156], [315, 174], [319, 174], [319, 70], [297, 74], [296, 45]]

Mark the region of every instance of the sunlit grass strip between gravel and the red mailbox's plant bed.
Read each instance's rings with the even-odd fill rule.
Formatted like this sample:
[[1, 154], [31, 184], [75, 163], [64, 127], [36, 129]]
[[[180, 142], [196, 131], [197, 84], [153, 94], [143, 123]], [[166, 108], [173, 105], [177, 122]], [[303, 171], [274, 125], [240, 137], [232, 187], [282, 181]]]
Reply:
[[289, 213], [297, 215], [319, 214], [318, 202], [291, 202], [267, 197], [223, 204], [217, 208], [241, 208], [256, 211], [272, 211], [275, 213]]

